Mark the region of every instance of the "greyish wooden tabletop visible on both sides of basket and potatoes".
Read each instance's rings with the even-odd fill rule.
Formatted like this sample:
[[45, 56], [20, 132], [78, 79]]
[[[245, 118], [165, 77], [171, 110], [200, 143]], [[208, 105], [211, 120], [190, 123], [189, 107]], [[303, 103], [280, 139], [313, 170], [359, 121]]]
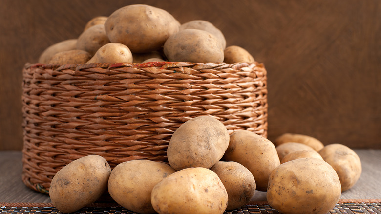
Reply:
[[[341, 194], [341, 199], [381, 200], [381, 150], [355, 149], [362, 164], [359, 181]], [[0, 151], [0, 202], [51, 203], [48, 195], [26, 187], [21, 180], [21, 151]], [[266, 200], [266, 192], [257, 191], [252, 201]]]

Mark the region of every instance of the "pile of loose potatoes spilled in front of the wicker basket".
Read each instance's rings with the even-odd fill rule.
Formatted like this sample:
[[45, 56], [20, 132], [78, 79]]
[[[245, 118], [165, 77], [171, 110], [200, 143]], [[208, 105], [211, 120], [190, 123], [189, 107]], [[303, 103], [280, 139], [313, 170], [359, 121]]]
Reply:
[[177, 128], [168, 163], [131, 160], [112, 171], [98, 155], [77, 159], [53, 177], [50, 198], [74, 212], [108, 191], [136, 213], [222, 214], [250, 202], [255, 190], [284, 214], [325, 214], [361, 174], [358, 155], [342, 144], [286, 133], [272, 143], [247, 130], [228, 134], [211, 116]]

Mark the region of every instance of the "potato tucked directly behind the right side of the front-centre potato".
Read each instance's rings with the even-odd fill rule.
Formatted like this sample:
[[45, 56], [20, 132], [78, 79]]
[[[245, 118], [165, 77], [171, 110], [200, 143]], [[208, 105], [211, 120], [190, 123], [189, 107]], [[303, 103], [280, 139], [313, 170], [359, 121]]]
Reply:
[[228, 193], [226, 210], [233, 210], [249, 203], [255, 193], [255, 180], [246, 167], [234, 161], [219, 161], [210, 170], [218, 175]]

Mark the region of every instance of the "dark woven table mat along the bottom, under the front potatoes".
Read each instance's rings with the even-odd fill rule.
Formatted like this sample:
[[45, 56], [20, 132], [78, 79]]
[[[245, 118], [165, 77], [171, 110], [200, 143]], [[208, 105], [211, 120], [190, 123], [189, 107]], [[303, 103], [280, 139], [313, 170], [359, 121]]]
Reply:
[[[0, 203], [0, 214], [61, 214], [52, 204]], [[92, 204], [75, 214], [136, 214], [117, 204]], [[251, 203], [224, 214], [281, 214], [267, 202]], [[381, 199], [340, 200], [328, 214], [381, 214]]]

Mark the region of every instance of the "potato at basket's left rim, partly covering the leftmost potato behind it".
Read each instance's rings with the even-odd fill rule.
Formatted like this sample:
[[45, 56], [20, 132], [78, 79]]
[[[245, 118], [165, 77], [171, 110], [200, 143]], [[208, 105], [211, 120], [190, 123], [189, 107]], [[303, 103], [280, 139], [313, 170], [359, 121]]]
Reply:
[[54, 54], [48, 64], [85, 64], [90, 59], [84, 50], [68, 50]]

